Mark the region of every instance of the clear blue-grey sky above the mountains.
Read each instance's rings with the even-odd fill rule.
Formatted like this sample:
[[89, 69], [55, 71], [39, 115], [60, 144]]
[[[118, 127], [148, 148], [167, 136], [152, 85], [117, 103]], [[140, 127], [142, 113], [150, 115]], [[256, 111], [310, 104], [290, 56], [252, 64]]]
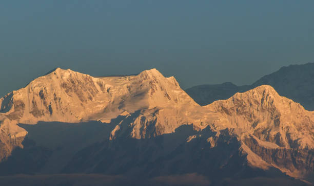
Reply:
[[55, 67], [183, 88], [314, 62], [314, 1], [1, 1], [0, 96]]

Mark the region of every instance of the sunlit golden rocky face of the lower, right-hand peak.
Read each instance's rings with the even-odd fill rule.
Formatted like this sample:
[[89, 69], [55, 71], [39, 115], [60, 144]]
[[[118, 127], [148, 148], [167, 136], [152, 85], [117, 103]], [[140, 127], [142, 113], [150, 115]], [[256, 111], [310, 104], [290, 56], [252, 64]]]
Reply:
[[234, 128], [249, 148], [248, 156], [254, 153], [291, 176], [314, 171], [314, 112], [279, 96], [271, 86], [237, 93], [206, 107], [223, 115], [227, 121], [222, 123]]

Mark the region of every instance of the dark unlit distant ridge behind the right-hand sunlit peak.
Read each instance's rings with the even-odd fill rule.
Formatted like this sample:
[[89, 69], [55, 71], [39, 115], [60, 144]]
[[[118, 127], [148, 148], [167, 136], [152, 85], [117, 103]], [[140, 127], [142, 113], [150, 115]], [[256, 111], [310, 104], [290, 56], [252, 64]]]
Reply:
[[187, 94], [200, 105], [230, 98], [260, 85], [270, 85], [279, 95], [300, 103], [307, 110], [314, 110], [314, 63], [284, 66], [279, 71], [262, 77], [251, 85], [237, 86], [231, 82], [217, 85], [198, 85], [186, 89]]

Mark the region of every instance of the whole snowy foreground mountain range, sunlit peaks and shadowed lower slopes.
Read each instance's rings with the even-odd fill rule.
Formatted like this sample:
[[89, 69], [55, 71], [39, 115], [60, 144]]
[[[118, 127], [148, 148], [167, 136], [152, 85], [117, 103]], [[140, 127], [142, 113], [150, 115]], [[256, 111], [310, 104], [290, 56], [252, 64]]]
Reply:
[[0, 106], [0, 175], [312, 181], [314, 112], [269, 85], [200, 106], [156, 69], [92, 77], [56, 68]]

